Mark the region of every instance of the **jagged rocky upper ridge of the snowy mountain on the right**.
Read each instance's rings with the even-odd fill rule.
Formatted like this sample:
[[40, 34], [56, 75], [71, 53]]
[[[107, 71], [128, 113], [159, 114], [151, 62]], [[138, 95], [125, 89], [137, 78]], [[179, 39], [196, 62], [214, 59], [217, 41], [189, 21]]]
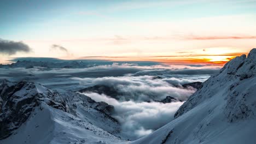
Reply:
[[180, 109], [176, 112], [174, 117], [183, 115], [183, 113], [193, 109], [203, 101], [213, 97], [216, 89], [225, 87], [228, 89], [233, 85], [238, 85], [242, 80], [253, 77], [256, 73], [256, 49], [252, 49], [248, 57], [246, 55], [237, 56], [231, 59], [228, 63], [220, 69], [219, 73], [211, 76], [199, 91], [190, 96]]

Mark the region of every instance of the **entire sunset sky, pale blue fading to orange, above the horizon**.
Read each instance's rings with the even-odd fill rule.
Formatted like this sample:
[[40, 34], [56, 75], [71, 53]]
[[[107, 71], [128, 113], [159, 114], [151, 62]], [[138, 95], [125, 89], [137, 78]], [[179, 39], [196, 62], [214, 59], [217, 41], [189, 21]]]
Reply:
[[255, 47], [256, 1], [0, 1], [16, 57], [223, 65]]

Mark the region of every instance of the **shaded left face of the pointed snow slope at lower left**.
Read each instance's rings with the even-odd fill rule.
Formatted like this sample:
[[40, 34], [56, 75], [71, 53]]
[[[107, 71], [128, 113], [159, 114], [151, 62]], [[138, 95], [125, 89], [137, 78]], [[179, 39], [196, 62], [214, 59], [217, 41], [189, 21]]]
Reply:
[[0, 141], [1, 143], [49, 143], [53, 139], [54, 125], [49, 109], [38, 107], [31, 117], [15, 131], [13, 135]]

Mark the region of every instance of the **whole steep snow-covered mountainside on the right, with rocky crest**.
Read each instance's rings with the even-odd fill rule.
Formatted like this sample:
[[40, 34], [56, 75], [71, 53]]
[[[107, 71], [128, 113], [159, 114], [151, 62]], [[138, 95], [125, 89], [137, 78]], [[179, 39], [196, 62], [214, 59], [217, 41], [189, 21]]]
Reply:
[[224, 65], [172, 122], [132, 143], [255, 143], [256, 49]]

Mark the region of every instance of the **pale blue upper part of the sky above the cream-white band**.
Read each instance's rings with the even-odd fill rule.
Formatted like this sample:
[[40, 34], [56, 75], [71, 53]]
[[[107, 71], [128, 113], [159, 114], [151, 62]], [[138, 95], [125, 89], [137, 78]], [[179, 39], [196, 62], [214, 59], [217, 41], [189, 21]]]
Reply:
[[[256, 1], [3, 0], [0, 5], [0, 36], [17, 40], [22, 39], [21, 33], [36, 35], [37, 32], [44, 33], [47, 27], [54, 29], [59, 25], [76, 26], [83, 23], [90, 26], [108, 21], [165, 22], [199, 17], [256, 14]], [[51, 34], [57, 35], [61, 30], [57, 28]]]

